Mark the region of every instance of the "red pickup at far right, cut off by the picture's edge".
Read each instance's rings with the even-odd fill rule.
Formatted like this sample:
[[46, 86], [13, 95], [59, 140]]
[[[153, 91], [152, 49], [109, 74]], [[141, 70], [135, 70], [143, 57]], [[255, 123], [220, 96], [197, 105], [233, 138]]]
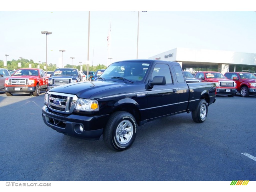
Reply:
[[256, 94], [256, 76], [252, 73], [227, 72], [224, 75], [228, 79], [236, 81], [237, 92], [240, 92], [242, 97], [248, 97], [250, 94]]

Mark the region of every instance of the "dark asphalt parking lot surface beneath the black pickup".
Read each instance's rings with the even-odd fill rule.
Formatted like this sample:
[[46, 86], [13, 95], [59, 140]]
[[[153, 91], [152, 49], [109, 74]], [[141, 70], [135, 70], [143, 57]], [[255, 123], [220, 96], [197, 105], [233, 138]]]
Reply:
[[[256, 96], [217, 96], [207, 120], [183, 113], [141, 126], [131, 148], [63, 135], [42, 121], [44, 91], [0, 91], [2, 181], [256, 180]], [[242, 154], [244, 153], [244, 154]]]

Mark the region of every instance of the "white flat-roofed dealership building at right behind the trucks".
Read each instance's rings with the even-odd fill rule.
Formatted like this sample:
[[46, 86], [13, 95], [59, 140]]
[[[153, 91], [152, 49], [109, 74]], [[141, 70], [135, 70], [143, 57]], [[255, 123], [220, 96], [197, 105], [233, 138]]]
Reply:
[[176, 61], [184, 71], [256, 73], [256, 54], [208, 49], [175, 48], [149, 59]]

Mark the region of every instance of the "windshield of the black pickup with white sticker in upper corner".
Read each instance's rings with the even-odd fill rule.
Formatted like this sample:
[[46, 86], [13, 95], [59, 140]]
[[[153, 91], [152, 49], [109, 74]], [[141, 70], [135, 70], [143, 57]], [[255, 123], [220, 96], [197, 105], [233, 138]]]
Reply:
[[99, 77], [108, 81], [141, 82], [150, 66], [150, 61], [123, 61], [112, 63]]

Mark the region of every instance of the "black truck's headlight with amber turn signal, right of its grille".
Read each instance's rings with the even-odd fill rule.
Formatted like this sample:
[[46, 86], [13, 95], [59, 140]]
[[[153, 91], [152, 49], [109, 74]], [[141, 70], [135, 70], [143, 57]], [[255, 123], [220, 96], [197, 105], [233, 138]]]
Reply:
[[79, 111], [99, 111], [99, 104], [96, 100], [78, 99], [75, 109]]

